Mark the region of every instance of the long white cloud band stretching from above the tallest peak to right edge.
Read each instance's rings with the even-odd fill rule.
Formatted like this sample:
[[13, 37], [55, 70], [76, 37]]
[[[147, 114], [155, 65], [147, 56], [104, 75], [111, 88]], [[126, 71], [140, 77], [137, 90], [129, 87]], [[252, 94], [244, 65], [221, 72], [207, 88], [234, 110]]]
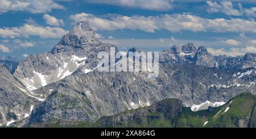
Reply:
[[155, 32], [155, 30], [180, 31], [211, 31], [211, 32], [256, 32], [256, 22], [240, 18], [206, 19], [190, 14], [164, 14], [159, 16], [123, 16], [101, 18], [92, 14], [71, 15], [74, 22], [87, 20], [94, 30], [141, 30]]

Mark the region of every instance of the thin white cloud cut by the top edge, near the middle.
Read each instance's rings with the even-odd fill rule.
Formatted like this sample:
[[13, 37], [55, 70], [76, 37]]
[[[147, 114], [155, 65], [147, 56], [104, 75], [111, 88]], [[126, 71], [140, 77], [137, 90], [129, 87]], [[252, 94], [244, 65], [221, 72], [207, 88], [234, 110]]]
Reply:
[[147, 10], [166, 11], [172, 9], [173, 0], [89, 0], [89, 2]]

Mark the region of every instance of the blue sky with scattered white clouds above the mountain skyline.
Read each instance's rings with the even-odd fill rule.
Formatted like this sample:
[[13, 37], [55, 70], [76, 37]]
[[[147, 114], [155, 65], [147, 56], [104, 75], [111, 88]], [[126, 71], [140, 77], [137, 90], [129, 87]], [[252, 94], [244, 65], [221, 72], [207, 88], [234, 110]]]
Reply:
[[256, 0], [0, 0], [0, 57], [48, 52], [88, 20], [119, 50], [162, 50], [189, 42], [209, 52], [256, 53]]

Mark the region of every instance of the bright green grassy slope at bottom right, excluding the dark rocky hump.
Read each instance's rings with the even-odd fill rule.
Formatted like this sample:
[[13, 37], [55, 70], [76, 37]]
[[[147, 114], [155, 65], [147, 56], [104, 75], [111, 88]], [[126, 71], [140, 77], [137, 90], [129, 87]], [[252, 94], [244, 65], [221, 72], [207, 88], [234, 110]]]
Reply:
[[[172, 100], [168, 99], [168, 101]], [[141, 117], [133, 115], [134, 118], [128, 119], [126, 122], [119, 120], [118, 117], [128, 115], [127, 111], [115, 116], [104, 117], [98, 120], [96, 125], [98, 127], [255, 127], [256, 112], [253, 111], [255, 104], [255, 95], [242, 94], [221, 107], [210, 107], [197, 112], [183, 107], [182, 111], [172, 118], [164, 116], [161, 111], [156, 111], [148, 112]], [[140, 111], [140, 109], [133, 111]], [[205, 124], [206, 121], [208, 121], [207, 124]]]

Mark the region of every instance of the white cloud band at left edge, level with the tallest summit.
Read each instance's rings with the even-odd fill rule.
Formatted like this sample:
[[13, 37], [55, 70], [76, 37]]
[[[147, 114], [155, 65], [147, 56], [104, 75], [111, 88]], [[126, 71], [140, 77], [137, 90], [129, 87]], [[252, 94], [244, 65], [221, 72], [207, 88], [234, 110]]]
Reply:
[[0, 28], [1, 37], [29, 37], [29, 36], [39, 36], [42, 38], [59, 38], [63, 36], [67, 31], [59, 27], [42, 27], [35, 26], [31, 24], [24, 24], [21, 27], [12, 28]]

